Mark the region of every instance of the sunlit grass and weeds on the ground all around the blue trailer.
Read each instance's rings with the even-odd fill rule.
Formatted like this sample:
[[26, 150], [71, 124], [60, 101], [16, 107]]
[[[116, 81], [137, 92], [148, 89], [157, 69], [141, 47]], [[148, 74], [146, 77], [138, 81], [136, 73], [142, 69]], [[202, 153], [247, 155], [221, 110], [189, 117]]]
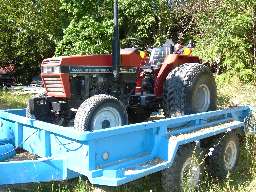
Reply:
[[[225, 80], [224, 76], [216, 78], [218, 87], [218, 107], [250, 104], [256, 106], [256, 85], [244, 84], [237, 78]], [[29, 95], [12, 95], [0, 92], [0, 108], [25, 107]], [[209, 192], [256, 192], [256, 137], [247, 136], [241, 145], [240, 161], [237, 170], [225, 180], [217, 180], [205, 174], [200, 191]], [[65, 182], [40, 183], [10, 188], [10, 191], [52, 191], [52, 192], [158, 192], [162, 191], [160, 174], [153, 174], [135, 182], [116, 188], [97, 188], [89, 184], [86, 178]]]

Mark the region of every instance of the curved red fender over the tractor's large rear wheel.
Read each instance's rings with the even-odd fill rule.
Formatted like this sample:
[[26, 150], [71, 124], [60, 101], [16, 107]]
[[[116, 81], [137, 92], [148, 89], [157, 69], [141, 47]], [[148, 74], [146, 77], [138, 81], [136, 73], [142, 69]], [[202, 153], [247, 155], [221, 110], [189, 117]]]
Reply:
[[170, 71], [184, 63], [200, 63], [200, 59], [196, 56], [178, 54], [170, 54], [165, 58], [155, 79], [154, 93], [157, 97], [162, 96], [164, 81]]

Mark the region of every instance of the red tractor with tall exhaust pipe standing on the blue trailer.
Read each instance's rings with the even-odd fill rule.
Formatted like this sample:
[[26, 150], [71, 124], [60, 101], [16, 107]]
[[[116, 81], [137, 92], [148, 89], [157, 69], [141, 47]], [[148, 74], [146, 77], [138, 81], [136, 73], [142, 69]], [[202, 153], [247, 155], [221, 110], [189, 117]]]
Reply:
[[93, 131], [142, 122], [160, 109], [170, 117], [216, 108], [213, 75], [198, 57], [172, 54], [171, 45], [153, 49], [150, 59], [120, 51], [117, 1], [114, 10], [113, 54], [45, 59], [47, 94], [29, 101], [27, 116]]

